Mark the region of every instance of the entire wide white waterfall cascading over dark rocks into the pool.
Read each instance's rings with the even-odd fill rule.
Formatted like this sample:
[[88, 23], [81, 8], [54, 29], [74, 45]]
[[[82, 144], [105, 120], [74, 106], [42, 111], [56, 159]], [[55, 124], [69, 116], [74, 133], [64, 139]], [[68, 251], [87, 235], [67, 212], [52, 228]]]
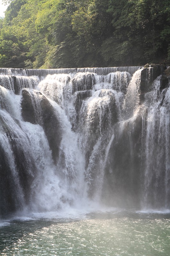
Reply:
[[151, 69], [1, 68], [0, 214], [169, 208], [170, 91]]

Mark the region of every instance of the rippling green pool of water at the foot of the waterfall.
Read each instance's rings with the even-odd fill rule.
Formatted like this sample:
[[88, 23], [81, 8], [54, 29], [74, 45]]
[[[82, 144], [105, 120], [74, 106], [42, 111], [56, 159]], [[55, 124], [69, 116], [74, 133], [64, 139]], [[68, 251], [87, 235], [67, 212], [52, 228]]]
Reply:
[[170, 255], [170, 213], [98, 212], [1, 221], [2, 256]]

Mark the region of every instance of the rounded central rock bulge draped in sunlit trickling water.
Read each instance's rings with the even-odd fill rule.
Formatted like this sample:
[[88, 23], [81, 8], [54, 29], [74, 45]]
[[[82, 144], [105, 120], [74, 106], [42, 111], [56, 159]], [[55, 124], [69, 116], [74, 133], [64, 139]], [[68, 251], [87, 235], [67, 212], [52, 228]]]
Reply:
[[82, 116], [80, 119], [82, 129], [87, 126], [90, 137], [102, 136], [118, 120], [114, 92], [97, 91], [96, 95], [83, 102], [80, 116]]

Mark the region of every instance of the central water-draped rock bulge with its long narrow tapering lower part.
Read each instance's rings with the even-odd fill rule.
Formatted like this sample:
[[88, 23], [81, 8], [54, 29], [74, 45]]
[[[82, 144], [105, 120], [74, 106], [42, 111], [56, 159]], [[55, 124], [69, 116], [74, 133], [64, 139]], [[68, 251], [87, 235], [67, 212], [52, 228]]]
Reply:
[[[98, 189], [99, 177], [103, 172], [102, 163], [105, 161], [106, 147], [112, 137], [114, 125], [118, 121], [118, 108], [114, 92], [101, 90], [98, 97], [101, 98], [101, 101], [94, 102], [91, 115], [88, 117], [90, 120], [88, 122], [88, 139], [85, 149], [85, 168], [88, 170], [85, 179], [89, 181], [90, 175], [88, 189], [90, 198], [93, 198]], [[85, 124], [82, 124], [82, 126], [85, 127]]]

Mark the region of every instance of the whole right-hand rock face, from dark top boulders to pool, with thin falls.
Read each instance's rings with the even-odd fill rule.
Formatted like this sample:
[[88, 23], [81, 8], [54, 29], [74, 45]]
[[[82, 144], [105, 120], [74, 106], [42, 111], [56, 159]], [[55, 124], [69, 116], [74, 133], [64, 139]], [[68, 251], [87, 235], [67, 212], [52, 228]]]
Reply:
[[170, 91], [168, 70], [165, 75], [164, 68], [155, 64], [144, 67], [139, 107], [130, 118], [126, 116], [115, 124], [102, 191], [103, 200], [108, 204], [141, 207], [143, 201], [143, 205], [161, 208], [164, 201], [169, 202], [166, 196], [169, 188], [165, 183], [169, 180], [166, 157], [170, 154]]

